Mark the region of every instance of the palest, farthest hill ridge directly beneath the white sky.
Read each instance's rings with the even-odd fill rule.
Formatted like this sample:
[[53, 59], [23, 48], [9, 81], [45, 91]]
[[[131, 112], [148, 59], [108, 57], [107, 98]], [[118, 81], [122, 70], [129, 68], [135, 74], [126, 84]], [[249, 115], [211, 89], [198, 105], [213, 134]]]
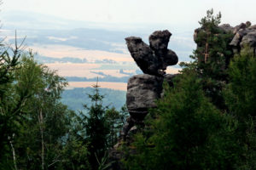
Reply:
[[[171, 23], [125, 23], [125, 22], [119, 22], [119, 23], [108, 23], [108, 22], [97, 22], [97, 21], [90, 21], [90, 20], [75, 20], [75, 19], [67, 19], [61, 16], [55, 16], [51, 14], [44, 14], [40, 12], [34, 12], [34, 11], [26, 11], [26, 10], [2, 10], [0, 11], [0, 20], [4, 26], [8, 26], [9, 20], [6, 19], [6, 16], [9, 15], [17, 15], [17, 18], [15, 20], [24, 20], [22, 19], [22, 16], [31, 16], [33, 17], [39, 17], [37, 20], [26, 20], [27, 25], [22, 25], [18, 27], [22, 27], [23, 29], [31, 28], [31, 24], [33, 22], [38, 22], [40, 19], [42, 22], [53, 22], [52, 27], [45, 28], [44, 26], [40, 27], [41, 29], [55, 29], [54, 26], [63, 25], [63, 27], [56, 27], [57, 29], [61, 30], [68, 30], [68, 29], [102, 29], [107, 31], [126, 31], [126, 32], [137, 32], [137, 33], [151, 33], [155, 30], [171, 30], [176, 31], [178, 33], [183, 32], [193, 32], [195, 28], [199, 26], [198, 22], [195, 26], [186, 26], [186, 25], [174, 25]], [[58, 22], [59, 21], [59, 22]], [[68, 25], [68, 22], [75, 23], [75, 25]], [[67, 27], [66, 27], [67, 26]]]

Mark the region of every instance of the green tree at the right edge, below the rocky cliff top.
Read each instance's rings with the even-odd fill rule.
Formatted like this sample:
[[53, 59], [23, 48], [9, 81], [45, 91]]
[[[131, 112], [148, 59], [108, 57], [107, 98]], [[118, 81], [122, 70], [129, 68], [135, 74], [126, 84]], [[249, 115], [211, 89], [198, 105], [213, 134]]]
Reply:
[[224, 90], [230, 115], [238, 121], [236, 138], [244, 154], [241, 169], [256, 168], [256, 58], [250, 48], [241, 50], [230, 62], [230, 83]]

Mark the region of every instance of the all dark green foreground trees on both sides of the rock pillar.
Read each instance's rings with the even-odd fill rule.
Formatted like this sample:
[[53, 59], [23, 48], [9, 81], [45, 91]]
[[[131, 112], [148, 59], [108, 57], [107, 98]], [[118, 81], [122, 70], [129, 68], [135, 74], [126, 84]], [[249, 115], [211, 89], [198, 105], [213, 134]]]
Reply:
[[[157, 107], [119, 146], [122, 169], [256, 169], [255, 51], [234, 53], [220, 21], [212, 10], [200, 20], [192, 61], [180, 63], [173, 86], [164, 83]], [[68, 108], [65, 78], [22, 48], [0, 49], [0, 169], [111, 169], [125, 105], [108, 104], [96, 82], [90, 94], [73, 91], [86, 97], [82, 111]]]

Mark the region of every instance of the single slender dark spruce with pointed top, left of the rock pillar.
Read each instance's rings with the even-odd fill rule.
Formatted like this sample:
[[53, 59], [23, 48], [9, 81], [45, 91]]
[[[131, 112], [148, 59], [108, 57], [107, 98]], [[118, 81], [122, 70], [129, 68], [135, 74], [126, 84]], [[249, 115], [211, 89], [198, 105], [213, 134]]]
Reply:
[[108, 107], [102, 105], [104, 96], [99, 93], [99, 86], [93, 86], [94, 94], [88, 94], [91, 105], [84, 105], [88, 112], [80, 112], [80, 122], [84, 128], [84, 144], [90, 153], [89, 162], [92, 169], [96, 169], [108, 149], [109, 126], [106, 117]]

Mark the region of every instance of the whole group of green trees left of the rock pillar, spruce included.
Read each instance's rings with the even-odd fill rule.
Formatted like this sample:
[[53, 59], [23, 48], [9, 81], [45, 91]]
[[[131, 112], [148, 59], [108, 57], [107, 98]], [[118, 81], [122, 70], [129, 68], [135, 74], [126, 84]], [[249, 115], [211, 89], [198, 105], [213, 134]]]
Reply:
[[[127, 111], [102, 105], [97, 86], [79, 114], [61, 103], [67, 81], [32, 52], [1, 44], [0, 169], [98, 169], [119, 138]], [[11, 51], [11, 52], [10, 52]]]

